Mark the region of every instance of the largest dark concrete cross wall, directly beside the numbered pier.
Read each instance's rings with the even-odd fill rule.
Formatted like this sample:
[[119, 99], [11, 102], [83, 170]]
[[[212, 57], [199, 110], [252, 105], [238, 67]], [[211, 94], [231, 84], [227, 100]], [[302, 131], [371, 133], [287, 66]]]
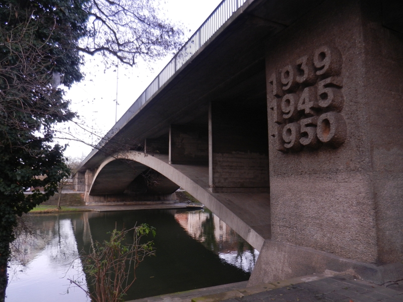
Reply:
[[210, 104], [209, 184], [213, 193], [269, 190], [266, 129], [265, 107]]

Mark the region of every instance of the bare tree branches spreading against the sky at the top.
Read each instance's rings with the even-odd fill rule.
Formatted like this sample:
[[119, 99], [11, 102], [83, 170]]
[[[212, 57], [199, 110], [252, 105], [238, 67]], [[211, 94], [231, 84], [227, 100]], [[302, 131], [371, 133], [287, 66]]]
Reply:
[[182, 30], [160, 17], [158, 7], [153, 0], [91, 0], [88, 35], [79, 50], [111, 54], [129, 65], [178, 50]]

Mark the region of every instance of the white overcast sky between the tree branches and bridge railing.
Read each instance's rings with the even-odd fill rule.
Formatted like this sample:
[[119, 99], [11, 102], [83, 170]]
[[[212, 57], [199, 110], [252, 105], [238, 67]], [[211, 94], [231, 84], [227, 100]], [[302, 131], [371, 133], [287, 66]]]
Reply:
[[[220, 2], [220, 0], [166, 0], [161, 2], [161, 9], [167, 18], [187, 28], [185, 34], [188, 38]], [[115, 124], [116, 86], [118, 87], [117, 120], [119, 120], [172, 56], [173, 54], [170, 54], [150, 65], [144, 62], [139, 62], [137, 67], [119, 65], [118, 85], [116, 85], [116, 68], [105, 71], [99, 56], [86, 56], [86, 64], [82, 67], [86, 77], [68, 90], [65, 98], [72, 101], [71, 108], [78, 112], [88, 127], [96, 133], [105, 134]], [[88, 143], [95, 143], [99, 139], [89, 132], [80, 131], [73, 124], [65, 125], [63, 129]], [[64, 153], [65, 156], [82, 157], [91, 152], [91, 147], [84, 143], [59, 141], [62, 144], [66, 142], [69, 146]]]

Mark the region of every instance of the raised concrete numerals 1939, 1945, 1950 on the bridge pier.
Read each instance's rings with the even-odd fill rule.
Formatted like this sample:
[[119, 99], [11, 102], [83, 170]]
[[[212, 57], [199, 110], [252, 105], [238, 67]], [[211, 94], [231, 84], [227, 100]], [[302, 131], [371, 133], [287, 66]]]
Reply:
[[313, 57], [303, 56], [273, 72], [273, 112], [277, 149], [298, 151], [322, 143], [339, 147], [347, 137], [347, 125], [340, 113], [342, 55], [339, 49], [322, 46]]

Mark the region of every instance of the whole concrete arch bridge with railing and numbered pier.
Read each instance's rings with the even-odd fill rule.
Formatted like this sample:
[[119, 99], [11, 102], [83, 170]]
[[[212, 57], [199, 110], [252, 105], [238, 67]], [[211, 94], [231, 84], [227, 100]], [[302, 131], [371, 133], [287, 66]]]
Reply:
[[260, 251], [250, 284], [403, 278], [403, 9], [224, 0], [84, 161], [87, 203], [182, 187]]

